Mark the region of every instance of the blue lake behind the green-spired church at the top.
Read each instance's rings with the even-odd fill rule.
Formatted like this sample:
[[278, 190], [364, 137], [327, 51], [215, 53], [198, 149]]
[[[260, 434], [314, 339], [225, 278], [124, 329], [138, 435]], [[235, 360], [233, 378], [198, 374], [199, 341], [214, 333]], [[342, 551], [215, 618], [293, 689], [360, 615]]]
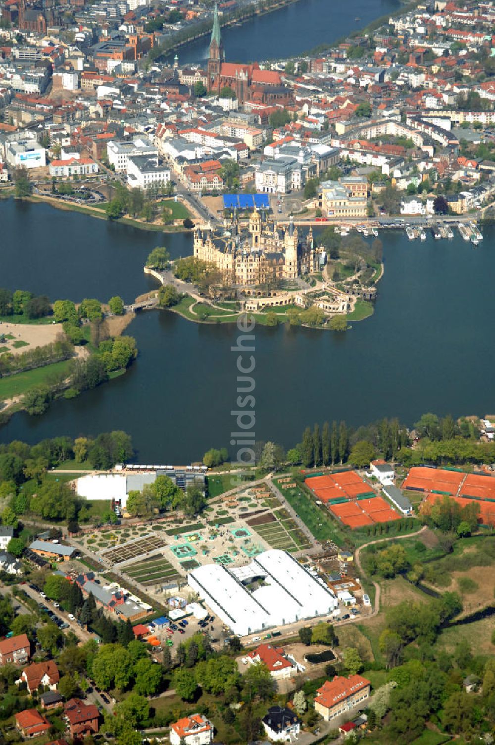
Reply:
[[[397, 8], [400, 8], [397, 0], [349, 0], [344, 5], [336, 0], [298, 0], [274, 13], [256, 16], [240, 26], [222, 29], [226, 61], [293, 57], [319, 44], [335, 42]], [[356, 22], [355, 18], [360, 18], [360, 21]], [[206, 60], [209, 43], [207, 36], [181, 47], [179, 62]]]

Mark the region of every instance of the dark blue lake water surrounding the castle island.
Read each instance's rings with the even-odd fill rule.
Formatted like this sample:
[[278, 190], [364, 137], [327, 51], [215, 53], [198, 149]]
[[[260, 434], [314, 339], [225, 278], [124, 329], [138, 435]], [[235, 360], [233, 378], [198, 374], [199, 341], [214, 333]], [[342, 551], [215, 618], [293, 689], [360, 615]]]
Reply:
[[[132, 299], [156, 286], [142, 273], [165, 244], [190, 253], [191, 237], [129, 229], [45, 205], [0, 202], [0, 286], [51, 299]], [[292, 446], [306, 425], [383, 416], [411, 425], [421, 413], [495, 413], [491, 370], [495, 229], [473, 249], [451, 241], [408, 241], [387, 232], [385, 275], [374, 315], [346, 334], [279, 326], [255, 329], [256, 439]], [[0, 441], [124, 429], [148, 463], [185, 463], [228, 446], [237, 408], [237, 331], [198, 325], [169, 311], [132, 322], [139, 357], [130, 370], [40, 418], [16, 414]]]

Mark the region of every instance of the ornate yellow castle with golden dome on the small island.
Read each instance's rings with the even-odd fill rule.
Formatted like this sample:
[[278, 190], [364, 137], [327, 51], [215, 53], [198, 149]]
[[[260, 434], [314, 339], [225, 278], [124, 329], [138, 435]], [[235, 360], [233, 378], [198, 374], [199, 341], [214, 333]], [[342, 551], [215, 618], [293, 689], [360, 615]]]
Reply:
[[300, 239], [292, 216], [284, 229], [255, 209], [247, 229], [240, 229], [234, 215], [224, 221], [223, 229], [198, 227], [194, 256], [214, 264], [226, 284], [250, 287], [319, 270], [320, 253], [313, 247], [312, 229]]

